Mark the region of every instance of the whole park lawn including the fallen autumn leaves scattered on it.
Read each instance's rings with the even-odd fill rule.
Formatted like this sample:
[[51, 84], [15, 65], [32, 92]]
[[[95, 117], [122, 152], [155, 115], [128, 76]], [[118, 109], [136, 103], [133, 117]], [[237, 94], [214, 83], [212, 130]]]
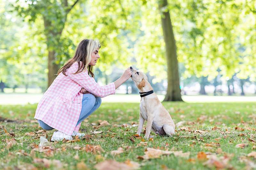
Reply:
[[36, 104], [0, 106], [0, 169], [256, 168], [255, 102], [163, 105], [178, 126], [173, 137], [151, 133], [144, 141], [135, 135], [139, 103], [102, 103], [82, 123], [86, 137], [42, 148], [40, 136], [49, 141], [54, 130], [42, 131], [33, 119]]

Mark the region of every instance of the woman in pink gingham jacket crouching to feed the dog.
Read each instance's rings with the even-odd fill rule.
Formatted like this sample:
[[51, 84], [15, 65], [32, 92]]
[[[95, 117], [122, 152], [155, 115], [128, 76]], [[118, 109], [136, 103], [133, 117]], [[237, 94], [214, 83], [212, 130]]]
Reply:
[[38, 103], [34, 118], [43, 129], [56, 129], [51, 141], [83, 137], [83, 133], [78, 133], [81, 122], [100, 107], [102, 97], [115, 94], [115, 89], [131, 77], [128, 68], [113, 83], [96, 83], [92, 66], [100, 58], [99, 49], [98, 41], [82, 40]]

